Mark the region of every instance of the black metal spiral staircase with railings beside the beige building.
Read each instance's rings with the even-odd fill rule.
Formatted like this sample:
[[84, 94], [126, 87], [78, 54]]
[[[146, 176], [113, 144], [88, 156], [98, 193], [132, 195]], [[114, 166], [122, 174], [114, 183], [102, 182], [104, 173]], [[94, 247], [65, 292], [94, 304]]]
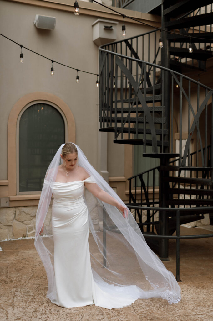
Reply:
[[[155, 29], [99, 48], [99, 130], [113, 132], [114, 143], [141, 145], [143, 157], [160, 160], [160, 166], [128, 178], [127, 205], [184, 207], [181, 224], [202, 219], [213, 205], [213, 90], [199, 81], [213, 60], [212, 1], [202, 5], [162, 1], [161, 34]], [[193, 206], [206, 210], [189, 212]], [[144, 236], [175, 232], [175, 210], [159, 211], [158, 220], [156, 210], [145, 212], [144, 221], [144, 211], [135, 210]], [[167, 260], [167, 239], [150, 245]]]

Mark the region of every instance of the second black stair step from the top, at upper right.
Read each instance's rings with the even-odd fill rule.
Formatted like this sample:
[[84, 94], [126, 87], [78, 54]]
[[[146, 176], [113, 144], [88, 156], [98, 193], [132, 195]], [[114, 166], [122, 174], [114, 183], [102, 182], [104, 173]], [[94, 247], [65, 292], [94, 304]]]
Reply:
[[203, 13], [193, 17], [186, 17], [165, 22], [165, 27], [169, 30], [206, 26], [212, 24], [213, 12]]

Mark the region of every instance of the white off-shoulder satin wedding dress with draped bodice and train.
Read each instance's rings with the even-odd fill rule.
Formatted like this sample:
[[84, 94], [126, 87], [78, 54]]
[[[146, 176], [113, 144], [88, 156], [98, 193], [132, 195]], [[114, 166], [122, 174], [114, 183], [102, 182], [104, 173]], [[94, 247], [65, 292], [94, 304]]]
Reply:
[[[102, 280], [91, 268], [88, 244], [89, 222], [84, 202], [84, 182], [52, 182], [52, 230], [54, 275], [57, 295], [51, 301], [61, 307], [95, 304], [103, 308], [122, 308], [138, 298], [151, 297], [136, 285], [114, 286]], [[152, 297], [157, 297], [153, 294]]]

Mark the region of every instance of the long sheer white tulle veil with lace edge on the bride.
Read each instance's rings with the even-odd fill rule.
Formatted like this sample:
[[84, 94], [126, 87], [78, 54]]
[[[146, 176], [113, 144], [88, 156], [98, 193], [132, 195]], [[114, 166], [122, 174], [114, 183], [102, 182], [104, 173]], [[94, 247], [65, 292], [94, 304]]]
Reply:
[[[39, 232], [51, 202], [51, 183], [57, 175], [63, 145], [47, 169], [36, 215], [35, 247], [47, 273], [47, 298], [51, 300], [56, 296], [51, 226], [45, 230], [48, 237], [41, 237]], [[86, 169], [99, 187], [123, 204], [88, 162], [81, 149], [77, 145], [76, 147], [79, 166]], [[137, 298], [162, 298], [170, 304], [177, 303], [181, 296], [174, 275], [148, 247], [131, 212], [128, 210], [128, 215], [124, 218], [116, 207], [98, 200], [88, 190], [85, 191], [85, 202], [89, 213], [90, 256], [95, 281], [120, 287], [136, 285], [140, 293]]]

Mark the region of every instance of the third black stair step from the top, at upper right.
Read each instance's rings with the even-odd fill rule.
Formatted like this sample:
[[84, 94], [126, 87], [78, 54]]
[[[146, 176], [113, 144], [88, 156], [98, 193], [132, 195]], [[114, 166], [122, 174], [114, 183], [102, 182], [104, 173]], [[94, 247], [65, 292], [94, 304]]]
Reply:
[[[189, 43], [189, 37], [191, 38], [192, 43], [209, 43], [209, 39], [213, 39], [213, 32], [196, 32], [196, 33], [185, 33], [185, 37], [183, 34], [172, 34], [167, 33], [167, 39], [172, 42], [186, 42]], [[195, 37], [195, 38], [194, 38]], [[205, 39], [206, 38], [206, 39]]]

